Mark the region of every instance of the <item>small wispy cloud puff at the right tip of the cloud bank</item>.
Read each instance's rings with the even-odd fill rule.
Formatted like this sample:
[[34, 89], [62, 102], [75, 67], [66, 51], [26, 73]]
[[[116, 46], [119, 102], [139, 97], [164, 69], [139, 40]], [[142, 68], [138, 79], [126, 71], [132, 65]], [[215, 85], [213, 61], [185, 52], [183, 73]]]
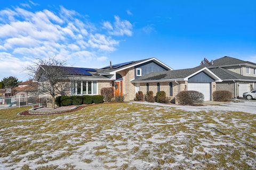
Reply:
[[119, 16], [114, 16], [115, 22], [103, 22], [103, 28], [108, 30], [112, 36], [132, 36], [132, 24], [127, 20], [121, 20]]

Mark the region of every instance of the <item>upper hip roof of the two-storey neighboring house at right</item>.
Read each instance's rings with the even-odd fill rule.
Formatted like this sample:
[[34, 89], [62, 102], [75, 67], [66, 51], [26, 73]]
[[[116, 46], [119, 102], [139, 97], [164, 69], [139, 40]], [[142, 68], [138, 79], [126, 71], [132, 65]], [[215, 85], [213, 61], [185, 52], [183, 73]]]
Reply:
[[256, 63], [239, 60], [237, 58], [233, 58], [233, 57], [229, 57], [229, 56], [218, 58], [217, 60], [213, 60], [213, 64], [211, 64], [211, 62], [209, 62], [209, 63], [203, 64], [203, 66], [206, 66], [206, 67], [213, 66], [214, 67], [214, 66], [239, 65], [239, 64], [252, 64], [252, 65], [256, 66]]

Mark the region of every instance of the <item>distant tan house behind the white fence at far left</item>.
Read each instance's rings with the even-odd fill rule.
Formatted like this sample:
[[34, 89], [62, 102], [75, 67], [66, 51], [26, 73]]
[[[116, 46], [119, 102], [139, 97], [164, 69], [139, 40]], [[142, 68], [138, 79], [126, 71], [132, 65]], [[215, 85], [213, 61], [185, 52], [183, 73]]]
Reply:
[[18, 84], [18, 87], [13, 88], [15, 96], [29, 96], [37, 91], [37, 83], [32, 80], [24, 81]]

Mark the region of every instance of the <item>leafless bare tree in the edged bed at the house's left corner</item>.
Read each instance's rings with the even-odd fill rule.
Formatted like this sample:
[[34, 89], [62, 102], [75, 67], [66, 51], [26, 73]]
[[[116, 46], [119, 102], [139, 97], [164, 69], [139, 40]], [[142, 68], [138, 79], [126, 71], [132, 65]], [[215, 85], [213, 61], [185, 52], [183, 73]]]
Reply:
[[[70, 90], [66, 61], [56, 60], [54, 57], [36, 62], [26, 67], [30, 77], [38, 80], [37, 94], [49, 94], [52, 99], [52, 108], [55, 108], [55, 97], [67, 95]], [[38, 77], [39, 76], [39, 77]]]

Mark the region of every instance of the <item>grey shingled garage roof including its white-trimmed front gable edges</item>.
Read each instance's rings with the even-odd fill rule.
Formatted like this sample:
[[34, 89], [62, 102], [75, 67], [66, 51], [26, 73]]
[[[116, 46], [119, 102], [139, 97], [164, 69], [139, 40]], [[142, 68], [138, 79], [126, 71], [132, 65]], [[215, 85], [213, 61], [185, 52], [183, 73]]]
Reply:
[[220, 78], [212, 73], [206, 67], [195, 67], [190, 69], [180, 69], [180, 70], [169, 70], [164, 72], [158, 73], [150, 73], [143, 77], [138, 78], [137, 80], [133, 80], [132, 82], [143, 82], [143, 81], [167, 81], [167, 80], [179, 80], [179, 81], [186, 81], [188, 78], [192, 77], [193, 75], [205, 71], [209, 74], [212, 74], [215, 80], [220, 80]]

